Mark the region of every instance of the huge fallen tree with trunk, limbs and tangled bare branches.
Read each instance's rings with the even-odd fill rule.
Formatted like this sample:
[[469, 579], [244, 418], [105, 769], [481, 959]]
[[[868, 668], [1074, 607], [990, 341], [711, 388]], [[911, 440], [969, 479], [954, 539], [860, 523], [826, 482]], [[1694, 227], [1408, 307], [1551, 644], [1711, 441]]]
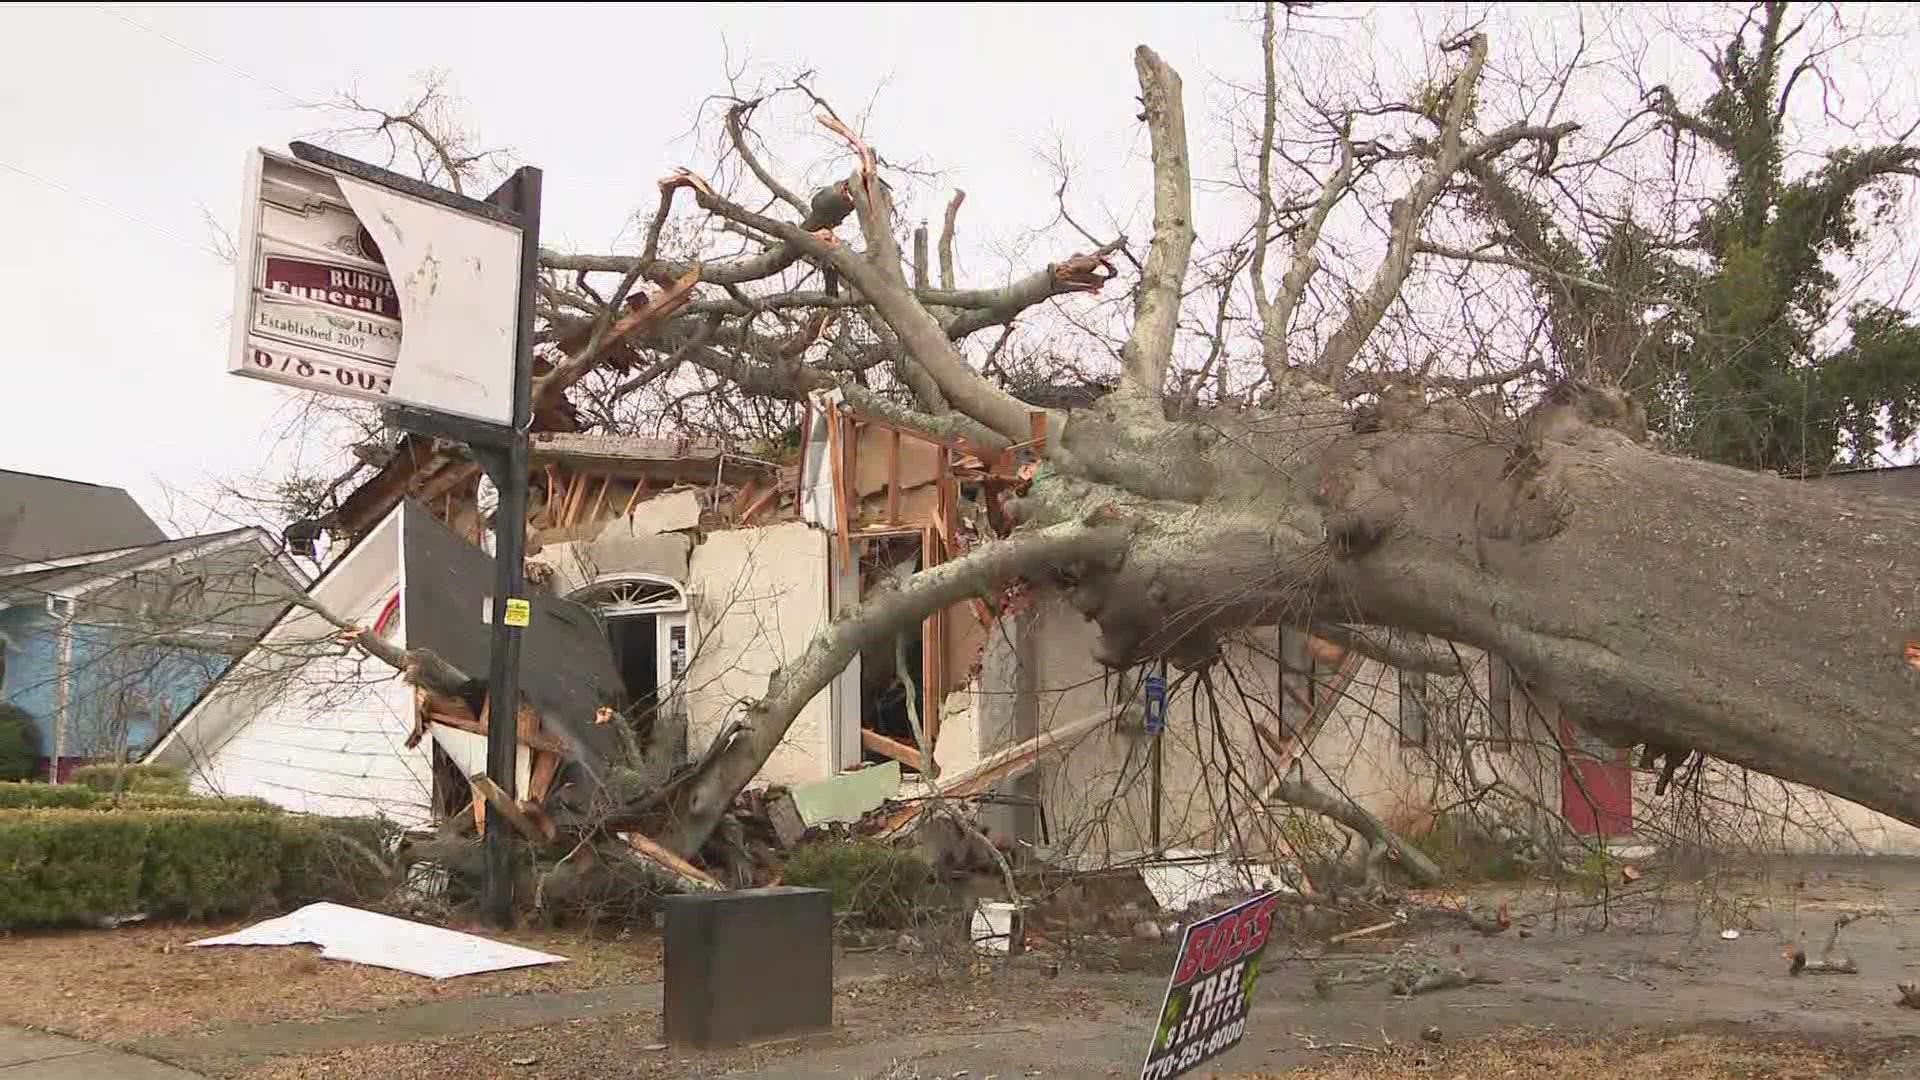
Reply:
[[[1269, 46], [1273, 35], [1269, 6]], [[580, 415], [611, 415], [636, 388], [691, 371], [701, 386], [787, 404], [837, 388], [954, 448], [1035, 455], [1004, 528], [841, 615], [772, 675], [659, 796], [664, 849], [701, 851], [851, 657], [885, 655], [922, 619], [991, 600], [1010, 580], [1064, 594], [1098, 625], [1108, 665], [1208, 665], [1225, 636], [1277, 623], [1313, 625], [1419, 671], [1446, 671], [1457, 663], [1450, 646], [1471, 646], [1619, 746], [1657, 746], [1668, 761], [1674, 748], [1705, 751], [1920, 824], [1910, 721], [1920, 673], [1903, 657], [1920, 636], [1916, 555], [1903, 542], [1920, 509], [1663, 454], [1647, 444], [1640, 404], [1613, 384], [1572, 379], [1567, 365], [1434, 373], [1411, 359], [1377, 361], [1382, 323], [1415, 267], [1463, 252], [1427, 234], [1434, 208], [1461, 192], [1505, 215], [1496, 240], [1521, 248], [1467, 261], [1498, 263], [1544, 292], [1576, 277], [1528, 256], [1548, 244], [1532, 242], [1538, 231], [1523, 225], [1534, 219], [1501, 196], [1517, 190], [1517, 175], [1551, 175], [1578, 125], [1484, 123], [1488, 50], [1480, 33], [1442, 42], [1444, 77], [1365, 113], [1411, 117], [1413, 131], [1396, 140], [1361, 138], [1359, 110], [1332, 117], [1331, 167], [1317, 190], [1283, 206], [1267, 175], [1277, 125], [1269, 48], [1260, 215], [1250, 246], [1212, 281], [1221, 294], [1215, 344], [1198, 365], [1181, 363], [1196, 242], [1187, 104], [1181, 77], [1144, 46], [1135, 71], [1154, 233], [1137, 263], [1125, 236], [1089, 234], [1083, 252], [1000, 286], [960, 288], [960, 196], [947, 208], [937, 265], [925, 229], [914, 231], [908, 261], [885, 163], [804, 86], [852, 150], [845, 179], [810, 194], [781, 183], [751, 135], [766, 98], [741, 100], [728, 111], [728, 152], [745, 165], [741, 184], [764, 190], [730, 192], [678, 169], [659, 183], [641, 254], [543, 252], [543, 332], [566, 352], [553, 371], [576, 394], [595, 365], [616, 363], [622, 375]], [[1386, 206], [1384, 254], [1346, 307], [1309, 334], [1300, 323], [1321, 273], [1321, 234], [1340, 206], [1361, 198], [1361, 177], [1388, 167], [1404, 184]], [[707, 225], [747, 238], [745, 254], [666, 254], [668, 219], [687, 198]], [[837, 236], [843, 225], [858, 242]], [[1269, 275], [1283, 246], [1290, 250]], [[1102, 292], [1125, 263], [1139, 269], [1131, 323], [1116, 379], [1089, 400], [1020, 388], [968, 354], [983, 331]], [[618, 284], [601, 290], [589, 275], [618, 275]], [[634, 294], [639, 281], [674, 282], [678, 306], [622, 323], [616, 338], [607, 332], [616, 311], [664, 311]], [[1235, 281], [1252, 292], [1263, 379], [1258, 394], [1206, 396], [1196, 388], [1225, 352]], [[1546, 306], [1557, 327], [1578, 321]], [[887, 371], [893, 384], [879, 380]], [[1538, 388], [1526, 409], [1480, 396], [1523, 380]], [[457, 682], [422, 657], [394, 659], [442, 690]], [[1277, 794], [1288, 799], [1284, 786]], [[1317, 792], [1292, 796], [1317, 813], [1346, 813]], [[1379, 844], [1405, 847], [1379, 822], [1348, 819]]]

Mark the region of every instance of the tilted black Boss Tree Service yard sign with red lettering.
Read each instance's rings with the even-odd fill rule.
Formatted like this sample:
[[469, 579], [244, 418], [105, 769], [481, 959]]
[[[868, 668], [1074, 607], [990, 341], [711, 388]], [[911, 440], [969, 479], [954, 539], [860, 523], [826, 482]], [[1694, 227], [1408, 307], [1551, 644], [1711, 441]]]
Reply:
[[1269, 892], [1187, 926], [1140, 1080], [1169, 1080], [1240, 1043], [1279, 903]]

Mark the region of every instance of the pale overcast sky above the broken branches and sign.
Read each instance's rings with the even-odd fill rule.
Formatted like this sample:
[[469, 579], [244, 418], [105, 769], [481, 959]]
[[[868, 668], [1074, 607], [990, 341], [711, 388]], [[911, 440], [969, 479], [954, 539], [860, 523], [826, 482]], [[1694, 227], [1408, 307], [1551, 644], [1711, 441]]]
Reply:
[[[947, 169], [945, 186], [968, 188], [970, 236], [993, 236], [1052, 215], [1037, 154], [1060, 133], [1085, 167], [1081, 208], [1139, 213], [1146, 136], [1133, 46], [1152, 44], [1185, 73], [1198, 127], [1219, 77], [1258, 73], [1252, 13], [4, 8], [0, 467], [121, 484], [156, 517], [207, 523], [200, 509], [169, 515], [165, 488], [204, 490], [257, 467], [286, 398], [225, 371], [232, 269], [202, 208], [230, 227], [244, 152], [324, 127], [301, 106], [344, 88], [397, 104], [420, 71], [445, 69], [484, 142], [545, 169], [543, 246], [609, 250], [632, 211], [651, 208], [653, 181], [699, 158], [687, 131], [701, 98], [726, 90], [730, 56], [749, 63], [749, 83], [808, 65], [843, 113], [876, 104], [866, 131], [889, 160], [927, 158]], [[1442, 19], [1428, 12], [1427, 29]], [[1369, 48], [1419, 63], [1421, 37], [1415, 19], [1380, 17]]]

